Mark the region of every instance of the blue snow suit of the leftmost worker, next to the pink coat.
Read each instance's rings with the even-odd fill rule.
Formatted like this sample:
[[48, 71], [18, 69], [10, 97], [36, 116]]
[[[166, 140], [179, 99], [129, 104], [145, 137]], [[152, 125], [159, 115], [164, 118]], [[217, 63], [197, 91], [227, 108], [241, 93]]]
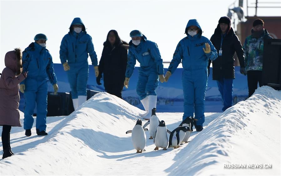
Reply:
[[31, 43], [23, 51], [23, 72], [26, 71], [28, 71], [28, 76], [20, 83], [25, 85], [23, 128], [25, 130], [32, 128], [36, 103], [36, 128], [40, 132], [46, 131], [48, 78], [52, 85], [57, 83], [52, 56], [48, 49], [35, 42]]

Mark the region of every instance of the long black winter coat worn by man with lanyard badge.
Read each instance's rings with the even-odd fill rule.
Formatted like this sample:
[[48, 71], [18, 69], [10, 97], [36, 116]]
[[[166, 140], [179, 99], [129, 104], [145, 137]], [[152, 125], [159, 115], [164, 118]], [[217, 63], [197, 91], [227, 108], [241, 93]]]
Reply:
[[[210, 39], [218, 53], [220, 50], [221, 39], [221, 29], [218, 24]], [[213, 60], [213, 80], [220, 80], [222, 78], [235, 79], [234, 52], [236, 52], [240, 67], [242, 68], [245, 68], [245, 58], [242, 45], [232, 28], [230, 28], [226, 36], [223, 38], [222, 50], [222, 56], [218, 55], [218, 58]], [[208, 68], [210, 67], [211, 62], [212, 60], [209, 60]]]

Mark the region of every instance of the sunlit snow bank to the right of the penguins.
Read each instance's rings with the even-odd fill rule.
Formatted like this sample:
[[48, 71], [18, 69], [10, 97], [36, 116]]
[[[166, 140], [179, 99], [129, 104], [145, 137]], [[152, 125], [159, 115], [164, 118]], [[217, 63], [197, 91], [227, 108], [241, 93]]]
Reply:
[[[172, 175], [280, 175], [280, 95], [271, 87], [259, 87], [253, 96], [209, 123], [166, 171]], [[272, 168], [224, 168], [224, 164], [257, 163]]]

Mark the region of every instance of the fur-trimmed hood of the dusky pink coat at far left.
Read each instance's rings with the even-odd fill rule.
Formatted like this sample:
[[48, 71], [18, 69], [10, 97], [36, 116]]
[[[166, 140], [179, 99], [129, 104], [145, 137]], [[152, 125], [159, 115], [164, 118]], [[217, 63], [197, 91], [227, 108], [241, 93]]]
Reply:
[[9, 51], [5, 55], [5, 66], [13, 70], [16, 76], [23, 71], [22, 57], [22, 50], [19, 48]]

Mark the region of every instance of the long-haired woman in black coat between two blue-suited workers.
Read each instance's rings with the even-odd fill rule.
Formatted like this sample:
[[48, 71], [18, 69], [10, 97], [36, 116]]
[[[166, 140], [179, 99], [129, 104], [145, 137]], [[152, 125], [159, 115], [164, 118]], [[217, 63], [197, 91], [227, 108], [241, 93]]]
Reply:
[[105, 91], [119, 98], [122, 98], [128, 47], [128, 43], [120, 39], [116, 30], [110, 30], [103, 43], [103, 53], [98, 65], [97, 84], [101, 85], [103, 74]]

